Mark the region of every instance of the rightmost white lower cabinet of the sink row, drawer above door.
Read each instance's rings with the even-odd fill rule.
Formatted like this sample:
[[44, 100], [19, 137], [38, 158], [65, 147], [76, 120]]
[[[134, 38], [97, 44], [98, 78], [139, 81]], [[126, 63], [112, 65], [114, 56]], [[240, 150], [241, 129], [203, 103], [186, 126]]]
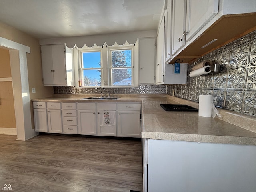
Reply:
[[118, 136], [140, 137], [140, 103], [118, 103]]

